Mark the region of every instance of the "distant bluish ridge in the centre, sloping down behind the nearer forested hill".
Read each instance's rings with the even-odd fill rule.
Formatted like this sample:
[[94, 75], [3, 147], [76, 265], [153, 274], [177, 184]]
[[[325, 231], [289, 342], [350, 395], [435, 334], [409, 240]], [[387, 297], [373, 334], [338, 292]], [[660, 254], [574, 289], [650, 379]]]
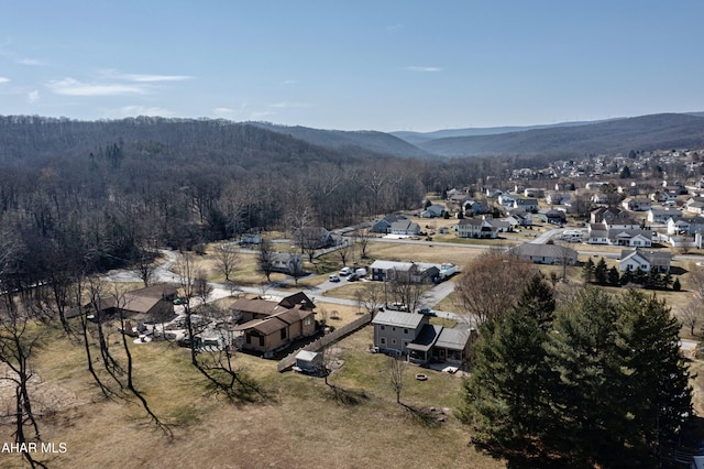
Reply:
[[365, 150], [385, 153], [393, 156], [428, 159], [433, 155], [393, 134], [360, 130], [354, 132], [341, 130], [320, 130], [307, 127], [286, 127], [268, 122], [249, 122], [273, 132], [290, 135], [314, 145], [334, 150]]

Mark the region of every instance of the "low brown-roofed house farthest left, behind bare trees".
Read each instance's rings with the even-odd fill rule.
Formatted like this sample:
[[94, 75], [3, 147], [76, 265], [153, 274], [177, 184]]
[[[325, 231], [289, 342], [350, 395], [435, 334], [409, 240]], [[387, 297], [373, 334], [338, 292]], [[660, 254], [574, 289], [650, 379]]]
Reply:
[[[176, 287], [169, 284], [132, 290], [117, 297], [101, 298], [98, 314], [101, 317], [119, 317], [122, 314], [135, 321], [162, 323], [174, 317], [176, 293]], [[96, 313], [90, 304], [84, 306], [84, 310]]]

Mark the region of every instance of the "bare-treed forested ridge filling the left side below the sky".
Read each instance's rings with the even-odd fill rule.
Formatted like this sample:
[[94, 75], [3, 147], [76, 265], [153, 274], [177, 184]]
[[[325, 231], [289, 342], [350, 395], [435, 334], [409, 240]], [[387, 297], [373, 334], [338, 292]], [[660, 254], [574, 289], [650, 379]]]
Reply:
[[12, 254], [0, 283], [54, 283], [294, 222], [334, 229], [418, 207], [460, 184], [459, 168], [480, 171], [228, 121], [0, 117], [0, 253]]

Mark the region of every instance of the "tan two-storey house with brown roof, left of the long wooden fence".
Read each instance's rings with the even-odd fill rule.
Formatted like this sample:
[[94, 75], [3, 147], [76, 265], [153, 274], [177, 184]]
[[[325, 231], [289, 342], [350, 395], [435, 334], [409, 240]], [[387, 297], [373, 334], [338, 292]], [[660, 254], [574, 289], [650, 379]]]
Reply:
[[316, 332], [315, 307], [302, 292], [280, 302], [240, 298], [232, 309], [244, 323], [234, 330], [244, 335], [243, 349], [270, 353]]

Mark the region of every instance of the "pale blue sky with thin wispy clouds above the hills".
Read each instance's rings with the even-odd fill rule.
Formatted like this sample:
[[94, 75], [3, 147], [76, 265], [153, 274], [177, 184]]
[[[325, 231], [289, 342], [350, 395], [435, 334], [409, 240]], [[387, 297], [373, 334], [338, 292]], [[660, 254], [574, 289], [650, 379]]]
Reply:
[[704, 111], [701, 0], [33, 0], [0, 114], [426, 132]]

